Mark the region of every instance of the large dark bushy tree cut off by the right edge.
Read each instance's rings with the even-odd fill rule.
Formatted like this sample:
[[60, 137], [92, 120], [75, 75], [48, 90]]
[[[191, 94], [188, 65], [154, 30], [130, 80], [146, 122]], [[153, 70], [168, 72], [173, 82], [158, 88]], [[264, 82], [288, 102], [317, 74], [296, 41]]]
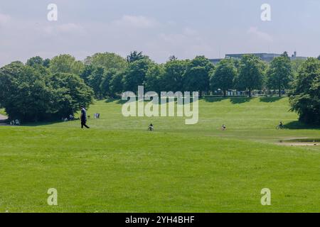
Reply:
[[300, 67], [294, 88], [289, 92], [292, 111], [304, 123], [320, 124], [320, 62], [309, 57]]

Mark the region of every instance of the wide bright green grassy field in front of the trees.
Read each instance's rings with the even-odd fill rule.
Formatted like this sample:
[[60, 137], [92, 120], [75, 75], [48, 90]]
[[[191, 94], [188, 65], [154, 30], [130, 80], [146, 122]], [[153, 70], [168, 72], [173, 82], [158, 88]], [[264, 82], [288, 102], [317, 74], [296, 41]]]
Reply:
[[[189, 126], [124, 118], [121, 107], [97, 101], [90, 130], [79, 121], [1, 126], [0, 212], [320, 211], [320, 146], [277, 145], [320, 138], [287, 98], [203, 99]], [[276, 130], [279, 121], [287, 129]], [[48, 206], [49, 188], [58, 206]], [[260, 204], [262, 188], [271, 206]]]

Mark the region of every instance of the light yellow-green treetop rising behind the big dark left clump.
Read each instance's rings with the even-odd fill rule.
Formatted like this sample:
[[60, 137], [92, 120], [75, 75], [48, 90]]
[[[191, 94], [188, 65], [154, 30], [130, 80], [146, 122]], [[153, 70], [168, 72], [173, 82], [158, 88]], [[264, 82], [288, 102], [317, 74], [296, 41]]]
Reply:
[[75, 60], [71, 55], [58, 55], [50, 60], [50, 71], [55, 74], [57, 72], [80, 74], [84, 68], [82, 62]]

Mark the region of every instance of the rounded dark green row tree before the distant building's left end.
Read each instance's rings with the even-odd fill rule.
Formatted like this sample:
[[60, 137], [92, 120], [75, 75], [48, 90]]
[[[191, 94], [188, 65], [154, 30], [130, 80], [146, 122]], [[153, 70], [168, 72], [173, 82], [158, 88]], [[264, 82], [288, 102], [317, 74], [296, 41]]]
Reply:
[[212, 90], [221, 89], [223, 96], [226, 96], [228, 89], [233, 88], [233, 82], [237, 76], [233, 60], [221, 60], [210, 77], [210, 87]]

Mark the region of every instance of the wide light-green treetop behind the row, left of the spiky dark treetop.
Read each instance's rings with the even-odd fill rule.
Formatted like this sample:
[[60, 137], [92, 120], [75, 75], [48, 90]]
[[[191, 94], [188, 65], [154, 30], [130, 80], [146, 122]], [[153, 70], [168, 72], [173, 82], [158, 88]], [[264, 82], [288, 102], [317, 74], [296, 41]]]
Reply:
[[86, 57], [85, 65], [102, 67], [105, 70], [123, 70], [125, 67], [127, 67], [127, 62], [123, 57], [113, 52], [98, 52], [90, 57]]

